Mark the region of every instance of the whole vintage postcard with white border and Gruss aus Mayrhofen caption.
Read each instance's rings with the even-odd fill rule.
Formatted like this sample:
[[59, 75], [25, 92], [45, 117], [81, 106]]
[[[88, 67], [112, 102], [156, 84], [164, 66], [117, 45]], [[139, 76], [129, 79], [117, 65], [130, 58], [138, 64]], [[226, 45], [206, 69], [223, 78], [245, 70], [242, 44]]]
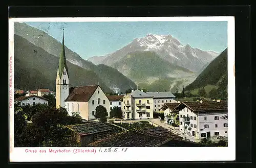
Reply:
[[236, 159], [234, 17], [9, 19], [10, 162]]

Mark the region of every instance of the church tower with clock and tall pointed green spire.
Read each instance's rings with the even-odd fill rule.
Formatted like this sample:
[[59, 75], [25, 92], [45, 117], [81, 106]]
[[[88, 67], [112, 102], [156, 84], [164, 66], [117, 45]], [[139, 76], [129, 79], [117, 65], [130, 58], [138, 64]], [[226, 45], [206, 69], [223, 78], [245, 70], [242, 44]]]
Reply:
[[64, 29], [62, 37], [62, 51], [59, 56], [59, 64], [56, 77], [56, 107], [65, 107], [65, 100], [69, 95], [69, 73], [65, 55]]

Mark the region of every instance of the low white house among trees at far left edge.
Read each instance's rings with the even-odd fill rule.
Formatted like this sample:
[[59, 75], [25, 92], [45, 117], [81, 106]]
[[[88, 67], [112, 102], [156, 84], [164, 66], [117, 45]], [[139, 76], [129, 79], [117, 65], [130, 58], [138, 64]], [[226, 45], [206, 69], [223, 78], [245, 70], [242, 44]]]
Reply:
[[30, 95], [28, 97], [19, 97], [17, 99], [15, 99], [15, 104], [17, 105], [36, 105], [36, 104], [46, 104], [48, 105], [48, 99], [42, 98], [42, 97], [38, 97], [37, 95]]

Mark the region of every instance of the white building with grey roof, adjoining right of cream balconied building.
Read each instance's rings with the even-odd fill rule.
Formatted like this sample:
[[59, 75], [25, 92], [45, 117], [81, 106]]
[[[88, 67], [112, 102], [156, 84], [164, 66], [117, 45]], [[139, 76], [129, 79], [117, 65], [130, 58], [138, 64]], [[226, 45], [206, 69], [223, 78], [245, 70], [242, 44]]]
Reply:
[[160, 112], [164, 103], [176, 103], [175, 95], [169, 91], [146, 92], [153, 96], [154, 112]]

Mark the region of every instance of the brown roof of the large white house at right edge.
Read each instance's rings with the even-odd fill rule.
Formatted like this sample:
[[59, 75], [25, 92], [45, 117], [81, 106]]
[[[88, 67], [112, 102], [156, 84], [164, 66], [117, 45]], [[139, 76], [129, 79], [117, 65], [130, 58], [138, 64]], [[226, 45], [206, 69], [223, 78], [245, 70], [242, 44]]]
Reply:
[[212, 101], [212, 102], [182, 102], [175, 110], [180, 110], [185, 107], [188, 107], [194, 112], [198, 111], [216, 111], [216, 110], [227, 110], [227, 101]]

